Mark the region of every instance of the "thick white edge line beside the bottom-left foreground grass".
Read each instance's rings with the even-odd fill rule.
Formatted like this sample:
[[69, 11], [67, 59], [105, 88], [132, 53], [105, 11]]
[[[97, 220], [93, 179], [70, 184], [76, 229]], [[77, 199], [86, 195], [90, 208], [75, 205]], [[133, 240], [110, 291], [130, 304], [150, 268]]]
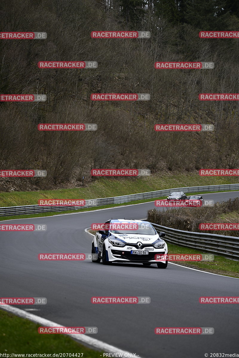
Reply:
[[[1, 309], [8, 311], [10, 313], [13, 313], [19, 317], [25, 318], [25, 319], [29, 319], [30, 321], [33, 321], [34, 323], [38, 323], [42, 326], [55, 326], [55, 327], [64, 327], [61, 324], [57, 324], [54, 323], [52, 321], [49, 321], [48, 319], [36, 316], [32, 313], [28, 313], [25, 312], [24, 310], [20, 310], [19, 308], [10, 306], [10, 305], [2, 305]], [[66, 334], [67, 336], [70, 336], [71, 338], [77, 340], [78, 342], [82, 343], [82, 344], [87, 344], [88, 346], [91, 346], [92, 348], [96, 348], [99, 350], [103, 350], [104, 352], [108, 352], [108, 353], [121, 353], [123, 354], [127, 354], [125, 355], [125, 357], [130, 357], [130, 352], [127, 352], [126, 350], [122, 350], [120, 348], [114, 347], [114, 345], [110, 345], [104, 342], [101, 342], [100, 340], [96, 339], [96, 338], [92, 338], [89, 337], [85, 334]], [[137, 355], [137, 357], [140, 357], [139, 355]]]

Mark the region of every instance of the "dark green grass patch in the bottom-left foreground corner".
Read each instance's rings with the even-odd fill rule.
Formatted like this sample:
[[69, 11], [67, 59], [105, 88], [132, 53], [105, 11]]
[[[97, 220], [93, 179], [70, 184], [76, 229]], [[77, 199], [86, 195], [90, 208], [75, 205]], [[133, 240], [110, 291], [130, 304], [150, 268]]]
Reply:
[[100, 352], [64, 334], [39, 334], [39, 326], [0, 309], [0, 353], [83, 353], [84, 358], [100, 357]]

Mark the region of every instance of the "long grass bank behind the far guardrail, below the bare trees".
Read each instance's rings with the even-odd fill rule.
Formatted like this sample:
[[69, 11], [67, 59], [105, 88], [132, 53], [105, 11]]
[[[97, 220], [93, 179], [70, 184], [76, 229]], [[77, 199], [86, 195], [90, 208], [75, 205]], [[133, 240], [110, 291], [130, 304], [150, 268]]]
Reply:
[[236, 177], [204, 177], [197, 173], [151, 175], [137, 178], [98, 178], [85, 188], [3, 192], [0, 193], [0, 207], [35, 205], [39, 199], [96, 199], [177, 187], [236, 183], [238, 183]]

